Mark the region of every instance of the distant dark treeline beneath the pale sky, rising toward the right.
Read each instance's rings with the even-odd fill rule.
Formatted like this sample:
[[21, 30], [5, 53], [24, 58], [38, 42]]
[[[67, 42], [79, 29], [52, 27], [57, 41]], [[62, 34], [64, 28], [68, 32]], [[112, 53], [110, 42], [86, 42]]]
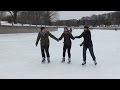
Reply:
[[67, 25], [67, 26], [80, 26], [80, 25], [90, 25], [90, 26], [100, 26], [100, 25], [120, 25], [120, 11], [106, 13], [101, 15], [92, 15], [90, 17], [82, 17], [79, 20], [58, 20], [54, 25]]

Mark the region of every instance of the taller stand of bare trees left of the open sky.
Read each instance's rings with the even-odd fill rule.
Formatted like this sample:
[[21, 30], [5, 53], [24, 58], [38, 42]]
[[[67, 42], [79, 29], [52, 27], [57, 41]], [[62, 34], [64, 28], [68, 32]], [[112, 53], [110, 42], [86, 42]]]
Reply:
[[[4, 11], [8, 15], [1, 18], [12, 24], [52, 25], [58, 18], [57, 11]], [[3, 11], [2, 11], [3, 13]]]

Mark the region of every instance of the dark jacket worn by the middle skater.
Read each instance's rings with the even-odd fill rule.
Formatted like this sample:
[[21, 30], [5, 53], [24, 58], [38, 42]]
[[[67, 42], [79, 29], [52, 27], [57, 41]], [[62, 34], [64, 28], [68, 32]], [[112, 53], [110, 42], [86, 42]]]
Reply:
[[69, 46], [72, 44], [71, 39], [73, 40], [75, 39], [71, 33], [68, 33], [68, 34], [63, 33], [59, 38], [59, 40], [61, 40], [63, 37], [64, 37], [64, 45], [66, 46]]

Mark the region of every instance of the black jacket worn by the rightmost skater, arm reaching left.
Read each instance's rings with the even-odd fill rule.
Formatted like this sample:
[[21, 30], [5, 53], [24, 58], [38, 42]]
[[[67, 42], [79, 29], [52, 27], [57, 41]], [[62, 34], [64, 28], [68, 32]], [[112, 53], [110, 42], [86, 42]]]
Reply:
[[75, 38], [84, 38], [83, 45], [86, 47], [93, 46], [92, 40], [91, 40], [91, 32], [90, 30], [84, 31], [80, 36], [76, 36]]

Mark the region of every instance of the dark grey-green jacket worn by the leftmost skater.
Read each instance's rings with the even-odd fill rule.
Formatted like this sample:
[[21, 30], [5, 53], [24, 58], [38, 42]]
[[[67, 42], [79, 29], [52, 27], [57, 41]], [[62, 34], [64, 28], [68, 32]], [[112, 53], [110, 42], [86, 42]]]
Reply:
[[49, 45], [49, 36], [58, 41], [58, 39], [54, 35], [52, 35], [49, 31], [39, 32], [36, 40], [36, 45], [38, 44], [39, 40], [41, 41], [40, 42], [41, 46]]

